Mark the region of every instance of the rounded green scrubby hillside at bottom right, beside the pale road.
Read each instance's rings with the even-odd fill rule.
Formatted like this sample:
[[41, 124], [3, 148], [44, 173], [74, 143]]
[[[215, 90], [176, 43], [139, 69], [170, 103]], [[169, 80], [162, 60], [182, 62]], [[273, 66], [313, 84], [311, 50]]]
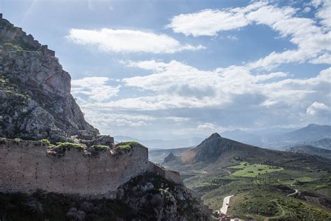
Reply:
[[282, 192], [270, 192], [261, 187], [237, 194], [228, 208], [230, 215], [240, 218], [254, 217], [257, 220], [328, 220], [331, 213], [306, 201], [286, 197]]

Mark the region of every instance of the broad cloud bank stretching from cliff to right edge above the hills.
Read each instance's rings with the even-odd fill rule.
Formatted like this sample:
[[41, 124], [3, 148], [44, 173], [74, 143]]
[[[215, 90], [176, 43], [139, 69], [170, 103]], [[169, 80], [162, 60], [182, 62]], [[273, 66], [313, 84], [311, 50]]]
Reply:
[[[228, 128], [330, 120], [330, 114], [321, 111], [323, 106], [314, 102], [331, 106], [331, 68], [312, 78], [297, 79], [284, 72], [257, 75], [245, 66], [206, 71], [175, 60], [126, 64], [150, 71], [147, 76], [124, 78], [121, 82], [122, 88], [147, 92], [143, 96], [78, 99], [87, 120], [103, 133], [133, 133], [137, 137], [147, 133], [169, 135], [170, 131], [177, 135], [207, 135]], [[108, 86], [110, 82], [106, 78], [85, 79], [73, 85], [75, 90], [77, 85]], [[199, 90], [194, 91], [196, 88]], [[169, 132], [165, 133], [164, 127]]]

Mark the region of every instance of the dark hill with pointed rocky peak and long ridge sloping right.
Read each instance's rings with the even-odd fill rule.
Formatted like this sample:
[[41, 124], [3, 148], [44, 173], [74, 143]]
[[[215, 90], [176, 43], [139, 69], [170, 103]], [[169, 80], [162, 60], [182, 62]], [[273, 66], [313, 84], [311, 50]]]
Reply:
[[[179, 157], [170, 157], [166, 166], [181, 171], [192, 166], [200, 168], [216, 166], [220, 168], [244, 161], [249, 163], [267, 164], [289, 168], [320, 168], [331, 170], [331, 161], [315, 155], [304, 155], [298, 152], [285, 152], [269, 150], [247, 145], [237, 141], [223, 138], [219, 134], [212, 134], [196, 148], [189, 149]], [[205, 166], [203, 166], [205, 165]]]

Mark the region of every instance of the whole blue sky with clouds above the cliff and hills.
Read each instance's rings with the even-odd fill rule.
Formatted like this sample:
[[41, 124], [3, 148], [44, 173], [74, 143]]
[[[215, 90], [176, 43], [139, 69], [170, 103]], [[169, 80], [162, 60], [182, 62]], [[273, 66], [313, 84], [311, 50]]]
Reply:
[[331, 124], [331, 1], [0, 0], [101, 134]]

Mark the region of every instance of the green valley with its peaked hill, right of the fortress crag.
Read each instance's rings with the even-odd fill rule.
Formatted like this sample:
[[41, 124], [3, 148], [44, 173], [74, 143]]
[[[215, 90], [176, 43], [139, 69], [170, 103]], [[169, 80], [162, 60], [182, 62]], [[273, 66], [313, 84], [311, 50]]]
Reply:
[[171, 159], [162, 165], [180, 171], [185, 185], [214, 211], [233, 195], [226, 211], [230, 218], [331, 218], [331, 161], [325, 157], [257, 148], [212, 134]]

